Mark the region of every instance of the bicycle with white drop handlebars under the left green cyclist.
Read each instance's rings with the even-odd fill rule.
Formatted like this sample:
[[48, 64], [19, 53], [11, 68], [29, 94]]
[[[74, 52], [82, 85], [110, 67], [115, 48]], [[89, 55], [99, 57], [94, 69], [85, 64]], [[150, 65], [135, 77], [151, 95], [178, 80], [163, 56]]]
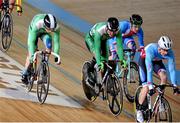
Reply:
[[[40, 54], [41, 61], [36, 67], [36, 59], [37, 55]], [[50, 70], [48, 65], [49, 55], [52, 54], [58, 58], [58, 62], [60, 61], [59, 55], [54, 52], [47, 53], [46, 51], [37, 51], [34, 54], [33, 63], [31, 63], [28, 67], [28, 84], [26, 88], [28, 91], [31, 91], [34, 81], [37, 81], [37, 97], [41, 104], [43, 104], [46, 100], [48, 91], [49, 91], [49, 84], [50, 84]]]

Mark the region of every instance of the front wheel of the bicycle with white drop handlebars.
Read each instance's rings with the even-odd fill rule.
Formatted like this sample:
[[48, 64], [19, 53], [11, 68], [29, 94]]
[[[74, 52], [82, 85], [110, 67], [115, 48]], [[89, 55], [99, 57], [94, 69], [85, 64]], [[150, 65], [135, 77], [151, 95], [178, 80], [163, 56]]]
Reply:
[[37, 97], [39, 102], [43, 104], [46, 100], [50, 83], [50, 72], [47, 63], [44, 62], [39, 66], [37, 79]]

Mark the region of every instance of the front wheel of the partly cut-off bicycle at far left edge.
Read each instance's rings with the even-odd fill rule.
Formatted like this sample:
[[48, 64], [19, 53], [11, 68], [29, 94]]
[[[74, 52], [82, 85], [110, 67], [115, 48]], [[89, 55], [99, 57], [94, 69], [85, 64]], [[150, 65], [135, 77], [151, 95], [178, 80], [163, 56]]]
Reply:
[[10, 14], [4, 15], [1, 29], [1, 50], [6, 52], [11, 46], [13, 37], [13, 20]]

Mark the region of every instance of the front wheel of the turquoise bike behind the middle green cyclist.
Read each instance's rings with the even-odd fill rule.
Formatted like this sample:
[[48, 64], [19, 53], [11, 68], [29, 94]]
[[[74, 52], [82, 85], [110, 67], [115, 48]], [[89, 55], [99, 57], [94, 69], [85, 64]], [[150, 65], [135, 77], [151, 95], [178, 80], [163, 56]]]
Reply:
[[130, 73], [125, 70], [123, 77], [123, 88], [129, 102], [134, 102], [134, 93], [139, 86], [139, 68], [135, 62], [130, 63]]

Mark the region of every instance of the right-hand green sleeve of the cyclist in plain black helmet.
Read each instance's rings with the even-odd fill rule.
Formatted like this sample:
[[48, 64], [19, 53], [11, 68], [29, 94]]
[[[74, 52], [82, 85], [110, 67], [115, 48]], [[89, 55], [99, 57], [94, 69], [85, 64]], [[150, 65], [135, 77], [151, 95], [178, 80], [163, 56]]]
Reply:
[[122, 35], [119, 32], [117, 35], [117, 54], [119, 56], [119, 60], [123, 60], [124, 59], [124, 55], [123, 55], [123, 43], [122, 43]]

